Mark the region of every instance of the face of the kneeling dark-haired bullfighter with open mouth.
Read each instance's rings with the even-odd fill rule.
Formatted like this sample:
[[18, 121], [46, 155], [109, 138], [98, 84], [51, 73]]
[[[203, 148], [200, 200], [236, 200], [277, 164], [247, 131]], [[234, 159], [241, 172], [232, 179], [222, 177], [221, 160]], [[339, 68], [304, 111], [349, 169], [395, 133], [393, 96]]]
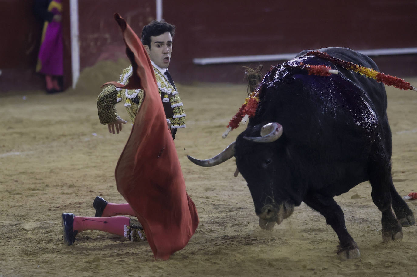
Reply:
[[151, 36], [151, 47], [144, 45], [151, 61], [161, 68], [166, 68], [171, 62], [172, 36], [170, 32], [164, 32], [156, 37]]

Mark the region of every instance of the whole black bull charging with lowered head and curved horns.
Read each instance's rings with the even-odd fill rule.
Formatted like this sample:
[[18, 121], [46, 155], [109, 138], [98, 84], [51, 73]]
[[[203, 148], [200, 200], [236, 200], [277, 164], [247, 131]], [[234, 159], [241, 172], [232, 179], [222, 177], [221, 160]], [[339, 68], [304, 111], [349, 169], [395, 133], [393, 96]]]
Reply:
[[[320, 51], [378, 70], [369, 57], [347, 48]], [[354, 259], [359, 249], [334, 196], [369, 180], [372, 200], [382, 212], [383, 241], [401, 239], [402, 226], [415, 223], [392, 183], [387, 95], [382, 83], [306, 52], [266, 74], [256, 114], [234, 143], [214, 158], [189, 158], [213, 166], [236, 157], [262, 228], [281, 223], [303, 201], [337, 233], [339, 259]], [[331, 66], [339, 74], [308, 75], [291, 67], [300, 62]]]

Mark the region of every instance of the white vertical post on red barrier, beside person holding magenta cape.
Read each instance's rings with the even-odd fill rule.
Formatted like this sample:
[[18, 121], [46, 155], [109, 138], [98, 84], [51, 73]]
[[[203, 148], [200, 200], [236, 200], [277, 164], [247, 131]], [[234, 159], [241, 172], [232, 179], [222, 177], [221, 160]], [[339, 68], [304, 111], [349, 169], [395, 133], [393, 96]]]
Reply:
[[71, 22], [71, 68], [73, 75], [73, 88], [77, 85], [80, 76], [80, 45], [78, 30], [78, 0], [70, 0]]

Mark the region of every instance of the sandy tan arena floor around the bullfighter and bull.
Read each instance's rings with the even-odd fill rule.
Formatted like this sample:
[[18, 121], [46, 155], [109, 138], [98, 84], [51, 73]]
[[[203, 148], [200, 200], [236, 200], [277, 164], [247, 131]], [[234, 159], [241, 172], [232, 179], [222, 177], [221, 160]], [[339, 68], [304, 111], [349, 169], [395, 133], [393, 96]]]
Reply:
[[[361, 257], [340, 262], [337, 236], [304, 203], [273, 231], [261, 230], [234, 160], [202, 168], [186, 155], [216, 155], [243, 129], [221, 134], [246, 97], [244, 85], [178, 85], [187, 128], [175, 144], [200, 225], [168, 261], [155, 261], [147, 242], [99, 231], [63, 244], [61, 213], [94, 216], [93, 199], [122, 203], [114, 168], [131, 125], [118, 135], [100, 125], [95, 100], [103, 82], [116, 80], [126, 61], [86, 69], [76, 90], [0, 94], [0, 277], [12, 276], [415, 276], [417, 226], [383, 244], [381, 213], [365, 182], [340, 197], [346, 225]], [[386, 72], [389, 73], [389, 72]], [[417, 85], [417, 78], [407, 78]], [[417, 93], [387, 88], [394, 184], [417, 191]], [[128, 119], [123, 105], [118, 110]], [[417, 200], [409, 201], [417, 217]]]

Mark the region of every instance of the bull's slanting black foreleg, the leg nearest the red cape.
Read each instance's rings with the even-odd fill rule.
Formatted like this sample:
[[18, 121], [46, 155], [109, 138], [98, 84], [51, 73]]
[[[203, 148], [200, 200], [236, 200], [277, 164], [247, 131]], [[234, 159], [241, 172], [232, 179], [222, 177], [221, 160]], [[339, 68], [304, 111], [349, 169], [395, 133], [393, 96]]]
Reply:
[[330, 225], [337, 237], [339, 237], [339, 247], [337, 256], [339, 260], [356, 259], [360, 257], [359, 248], [352, 236], [347, 232], [344, 223], [344, 214], [340, 206], [334, 201], [333, 197], [324, 196], [318, 193], [308, 193], [303, 199], [309, 207], [317, 210], [326, 218], [326, 223]]

